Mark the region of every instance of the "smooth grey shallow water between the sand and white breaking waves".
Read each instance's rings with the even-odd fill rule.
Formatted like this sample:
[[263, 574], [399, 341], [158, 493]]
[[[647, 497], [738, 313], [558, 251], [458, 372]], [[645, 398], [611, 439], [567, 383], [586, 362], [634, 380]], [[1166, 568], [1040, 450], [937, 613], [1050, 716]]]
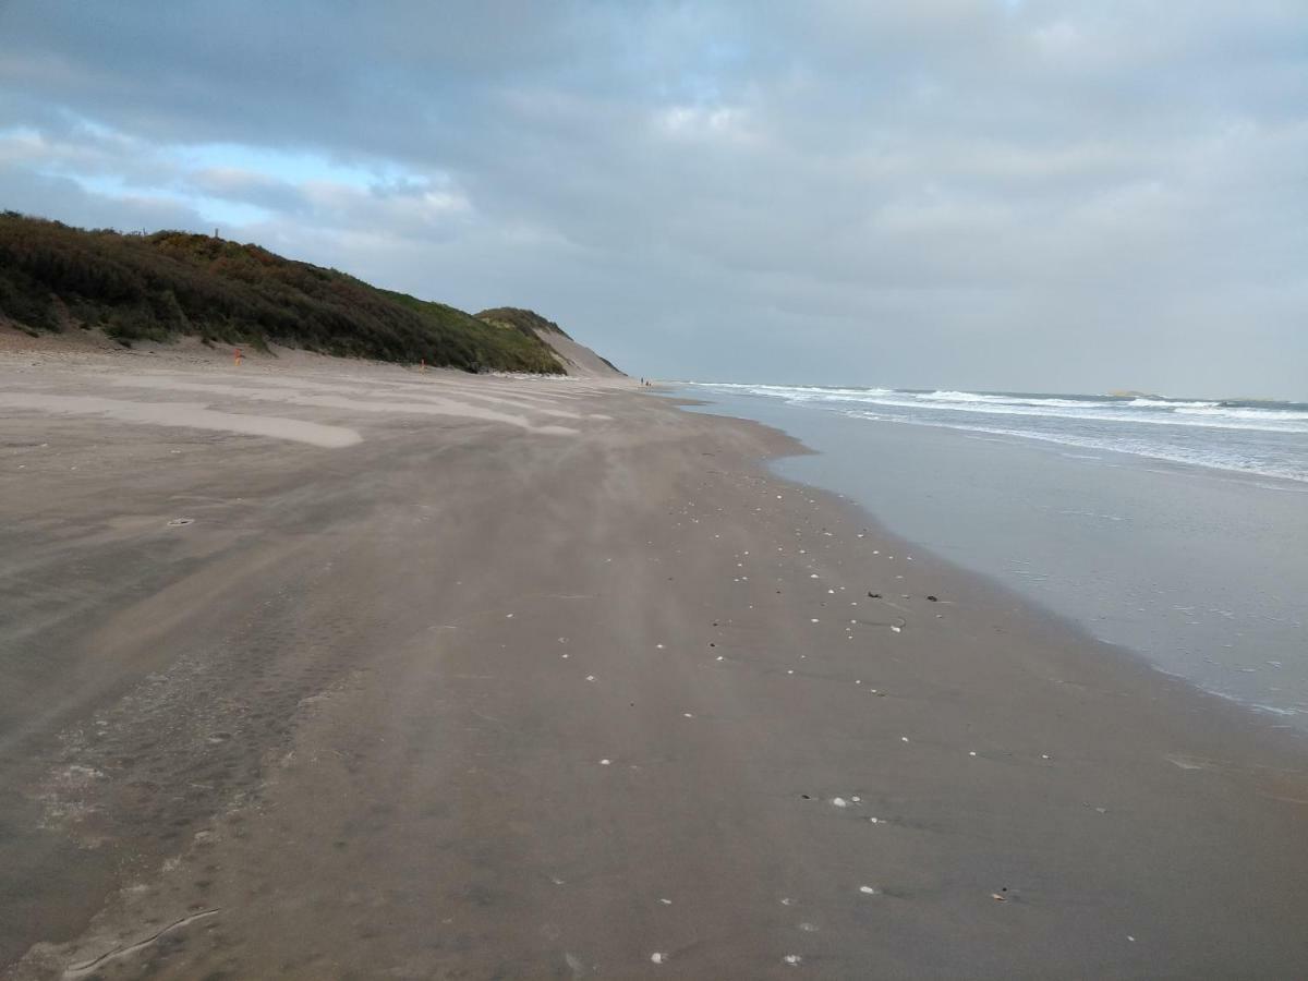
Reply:
[[747, 400], [706, 411], [786, 428], [821, 454], [782, 460], [780, 475], [863, 501], [921, 548], [1308, 732], [1308, 582], [1286, 544], [1301, 509], [1261, 480]]

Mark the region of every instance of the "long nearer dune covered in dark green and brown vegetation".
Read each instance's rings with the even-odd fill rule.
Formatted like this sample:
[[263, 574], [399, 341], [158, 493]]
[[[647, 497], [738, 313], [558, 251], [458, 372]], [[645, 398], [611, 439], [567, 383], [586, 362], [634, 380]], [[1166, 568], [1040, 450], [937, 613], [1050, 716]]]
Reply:
[[129, 345], [195, 335], [323, 354], [560, 374], [531, 331], [378, 289], [256, 245], [82, 230], [0, 215], [0, 314], [31, 334], [99, 328]]

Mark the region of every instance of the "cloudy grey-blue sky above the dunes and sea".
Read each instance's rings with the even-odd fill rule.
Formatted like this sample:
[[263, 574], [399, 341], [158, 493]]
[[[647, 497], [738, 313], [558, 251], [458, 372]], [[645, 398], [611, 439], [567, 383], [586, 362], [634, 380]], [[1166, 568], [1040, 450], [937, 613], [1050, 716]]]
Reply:
[[0, 207], [655, 378], [1308, 400], [1308, 4], [0, 0]]

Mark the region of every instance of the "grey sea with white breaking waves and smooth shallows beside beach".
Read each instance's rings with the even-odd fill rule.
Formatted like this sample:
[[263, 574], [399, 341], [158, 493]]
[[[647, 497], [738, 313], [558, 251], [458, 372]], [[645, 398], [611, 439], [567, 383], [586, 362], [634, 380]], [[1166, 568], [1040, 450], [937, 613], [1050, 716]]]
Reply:
[[1308, 404], [685, 382], [790, 479], [1308, 735]]

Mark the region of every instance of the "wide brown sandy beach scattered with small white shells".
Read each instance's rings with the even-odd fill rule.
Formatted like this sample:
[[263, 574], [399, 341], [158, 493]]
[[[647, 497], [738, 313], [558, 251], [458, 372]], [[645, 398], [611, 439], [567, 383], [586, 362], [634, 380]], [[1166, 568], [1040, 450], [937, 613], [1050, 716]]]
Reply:
[[203, 351], [0, 394], [5, 977], [1308, 973], [1299, 747], [774, 430]]

